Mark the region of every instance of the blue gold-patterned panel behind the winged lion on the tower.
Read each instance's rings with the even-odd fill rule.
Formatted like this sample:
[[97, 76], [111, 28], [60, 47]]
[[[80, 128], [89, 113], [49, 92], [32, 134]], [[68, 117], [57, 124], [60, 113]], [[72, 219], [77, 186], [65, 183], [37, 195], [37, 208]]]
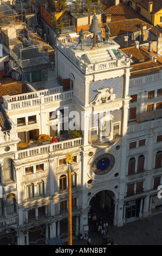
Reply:
[[94, 92], [97, 89], [103, 88], [113, 88], [113, 93], [115, 94], [115, 99], [122, 97], [123, 94], [123, 87], [124, 87], [124, 77], [114, 77], [105, 80], [99, 80], [95, 82], [90, 82], [89, 84], [89, 102], [94, 100], [95, 95], [98, 92]]

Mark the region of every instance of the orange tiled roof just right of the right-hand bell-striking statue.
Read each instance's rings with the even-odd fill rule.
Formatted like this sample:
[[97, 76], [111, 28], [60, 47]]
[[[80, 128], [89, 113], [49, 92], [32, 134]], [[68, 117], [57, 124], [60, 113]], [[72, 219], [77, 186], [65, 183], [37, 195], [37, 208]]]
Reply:
[[124, 35], [127, 33], [141, 31], [140, 25], [146, 25], [147, 29], [151, 28], [152, 25], [139, 19], [113, 21], [108, 24], [111, 36]]

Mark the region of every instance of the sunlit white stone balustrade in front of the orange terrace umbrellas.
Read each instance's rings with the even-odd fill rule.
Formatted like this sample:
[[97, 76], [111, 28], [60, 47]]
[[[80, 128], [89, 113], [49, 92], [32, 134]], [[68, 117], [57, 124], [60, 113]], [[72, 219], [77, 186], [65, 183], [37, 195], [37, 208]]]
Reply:
[[82, 144], [82, 138], [68, 139], [67, 141], [50, 143], [46, 145], [37, 145], [36, 147], [19, 150], [15, 153], [15, 160], [31, 156], [50, 154], [57, 150], [78, 147]]

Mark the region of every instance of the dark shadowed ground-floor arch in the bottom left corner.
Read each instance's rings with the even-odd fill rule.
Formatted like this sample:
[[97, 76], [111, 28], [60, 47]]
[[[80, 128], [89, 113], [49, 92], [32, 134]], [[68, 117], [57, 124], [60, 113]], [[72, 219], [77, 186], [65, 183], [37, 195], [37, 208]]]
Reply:
[[1, 245], [17, 245], [17, 231], [14, 228], [5, 228], [0, 231]]

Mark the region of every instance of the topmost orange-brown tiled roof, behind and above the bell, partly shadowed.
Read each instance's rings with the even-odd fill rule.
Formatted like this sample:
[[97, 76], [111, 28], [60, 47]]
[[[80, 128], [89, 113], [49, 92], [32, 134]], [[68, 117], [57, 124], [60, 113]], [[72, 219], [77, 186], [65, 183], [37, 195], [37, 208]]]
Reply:
[[[160, 0], [161, 1], [161, 0]], [[119, 3], [118, 5], [114, 5], [114, 0], [111, 2], [102, 2], [102, 10], [105, 11], [106, 14], [111, 14], [111, 21], [121, 21], [126, 19], [140, 19], [146, 22], [146, 19], [134, 11], [131, 7], [126, 3]]]

